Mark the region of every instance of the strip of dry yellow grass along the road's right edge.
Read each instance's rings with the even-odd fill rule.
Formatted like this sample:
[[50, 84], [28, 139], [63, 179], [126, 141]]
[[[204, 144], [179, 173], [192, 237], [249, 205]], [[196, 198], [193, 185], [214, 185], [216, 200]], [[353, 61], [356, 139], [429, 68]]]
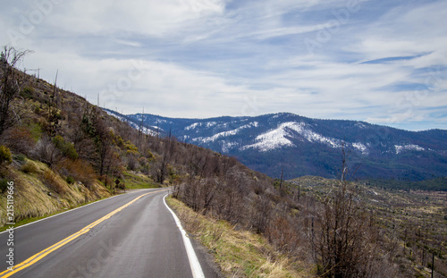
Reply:
[[197, 214], [177, 199], [167, 201], [185, 229], [214, 255], [226, 277], [314, 277], [309, 267], [292, 263], [260, 235]]

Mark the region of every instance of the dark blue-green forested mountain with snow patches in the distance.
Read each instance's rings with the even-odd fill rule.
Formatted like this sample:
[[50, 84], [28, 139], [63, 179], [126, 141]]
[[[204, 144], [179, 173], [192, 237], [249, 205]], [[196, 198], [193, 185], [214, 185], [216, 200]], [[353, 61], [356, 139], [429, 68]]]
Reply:
[[420, 181], [447, 176], [447, 131], [403, 131], [358, 121], [317, 120], [296, 114], [210, 119], [118, 114], [131, 126], [236, 156], [253, 170], [284, 178], [337, 177], [344, 147], [350, 173], [361, 179]]

